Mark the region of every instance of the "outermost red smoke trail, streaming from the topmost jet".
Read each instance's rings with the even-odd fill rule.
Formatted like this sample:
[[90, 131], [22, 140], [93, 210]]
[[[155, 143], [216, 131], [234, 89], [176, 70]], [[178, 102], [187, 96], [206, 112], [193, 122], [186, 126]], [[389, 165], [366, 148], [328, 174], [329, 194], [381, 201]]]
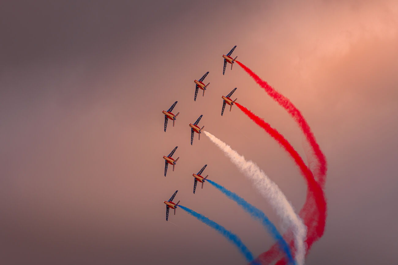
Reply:
[[314, 134], [312, 133], [310, 126], [308, 126], [308, 123], [304, 119], [304, 117], [301, 115], [300, 111], [293, 105], [293, 103], [290, 102], [290, 100], [283, 96], [281, 93], [277, 92], [273, 87], [271, 87], [267, 82], [263, 81], [258, 75], [256, 75], [252, 70], [250, 70], [247, 66], [242, 64], [241, 62], [238, 62], [235, 60], [236, 63], [238, 63], [243, 70], [245, 70], [253, 79], [256, 81], [256, 83], [259, 84], [260, 87], [262, 87], [267, 94], [272, 97], [279, 105], [281, 105], [283, 108], [289, 112], [289, 114], [295, 119], [295, 121], [298, 123], [300, 126], [302, 132], [307, 138], [307, 141], [310, 143], [312, 149], [314, 150], [314, 153], [318, 159], [319, 162], [319, 174], [315, 174], [318, 177], [318, 182], [322, 188], [324, 188], [325, 185], [325, 176], [326, 176], [326, 170], [327, 170], [327, 164], [326, 164], [326, 158], [325, 155], [322, 153], [318, 143], [315, 140]]

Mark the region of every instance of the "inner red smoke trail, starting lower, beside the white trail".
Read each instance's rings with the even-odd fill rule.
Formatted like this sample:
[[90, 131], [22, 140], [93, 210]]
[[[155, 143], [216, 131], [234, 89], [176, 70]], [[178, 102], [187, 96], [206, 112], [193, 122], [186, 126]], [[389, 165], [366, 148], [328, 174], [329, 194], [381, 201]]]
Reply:
[[[304, 220], [304, 224], [307, 227], [307, 253], [312, 244], [318, 240], [324, 233], [325, 221], [326, 221], [326, 201], [324, 193], [320, 185], [315, 181], [311, 170], [306, 166], [300, 155], [293, 148], [293, 146], [281, 135], [277, 130], [272, 128], [263, 119], [256, 116], [250, 110], [235, 103], [240, 110], [242, 110], [250, 119], [252, 119], [256, 124], [265, 130], [269, 135], [271, 135], [278, 143], [281, 145], [293, 158], [297, 166], [300, 168], [302, 175], [304, 176], [307, 185], [307, 197], [304, 207], [301, 209], [299, 215]], [[286, 241], [289, 240], [291, 247], [294, 246], [293, 238], [291, 233], [287, 233]], [[279, 249], [274, 245], [270, 250], [259, 255], [258, 259], [261, 262], [271, 262], [275, 258], [279, 257]], [[281, 260], [277, 264], [286, 264], [285, 260]]]

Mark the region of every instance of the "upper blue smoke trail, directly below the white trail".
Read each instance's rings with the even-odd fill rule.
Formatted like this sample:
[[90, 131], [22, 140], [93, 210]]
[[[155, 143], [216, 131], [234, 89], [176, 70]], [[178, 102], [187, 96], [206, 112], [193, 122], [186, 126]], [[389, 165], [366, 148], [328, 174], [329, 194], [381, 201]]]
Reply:
[[269, 221], [268, 217], [258, 208], [254, 207], [247, 201], [245, 201], [243, 198], [239, 197], [236, 193], [227, 190], [220, 184], [215, 183], [214, 181], [211, 181], [207, 179], [207, 181], [213, 185], [217, 190], [221, 191], [224, 193], [228, 198], [234, 200], [240, 207], [242, 207], [247, 213], [249, 213], [252, 217], [258, 219], [261, 221], [261, 224], [265, 227], [265, 229], [268, 230], [268, 232], [275, 238], [275, 240], [279, 244], [279, 248], [281, 250], [285, 251], [287, 259], [289, 260], [290, 264], [296, 264], [295, 260], [293, 259], [292, 253], [290, 251], [289, 245], [286, 243], [286, 241], [283, 239], [282, 235], [278, 232], [276, 229], [275, 225]]

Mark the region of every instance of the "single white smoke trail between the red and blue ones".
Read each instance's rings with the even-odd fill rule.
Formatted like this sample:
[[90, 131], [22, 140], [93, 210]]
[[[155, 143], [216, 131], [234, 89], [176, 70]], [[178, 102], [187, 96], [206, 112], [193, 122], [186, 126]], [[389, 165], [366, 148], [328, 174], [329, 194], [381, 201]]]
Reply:
[[254, 186], [259, 190], [261, 195], [263, 195], [263, 197], [269, 201], [270, 205], [272, 205], [279, 217], [281, 217], [284, 222], [287, 221], [289, 223], [293, 229], [293, 235], [295, 237], [295, 258], [297, 264], [304, 264], [304, 240], [306, 238], [306, 226], [303, 224], [300, 217], [298, 217], [298, 215], [295, 213], [293, 206], [287, 200], [283, 192], [253, 161], [246, 161], [243, 156], [232, 150], [229, 145], [211, 133], [206, 131], [203, 132], [213, 143], [215, 143], [222, 151], [224, 151], [224, 153], [240, 169], [240, 171], [254, 181]]

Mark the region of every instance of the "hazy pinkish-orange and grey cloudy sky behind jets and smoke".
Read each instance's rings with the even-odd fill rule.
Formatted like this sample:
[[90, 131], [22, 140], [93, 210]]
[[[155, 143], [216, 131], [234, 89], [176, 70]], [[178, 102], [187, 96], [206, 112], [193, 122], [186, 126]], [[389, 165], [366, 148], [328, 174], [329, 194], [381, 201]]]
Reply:
[[[396, 1], [3, 1], [0, 3], [2, 264], [246, 264], [175, 200], [235, 232], [255, 256], [274, 243], [204, 174], [270, 205], [199, 125], [256, 162], [297, 212], [306, 182], [281, 147], [234, 106], [279, 130], [306, 161], [293, 119], [233, 55], [302, 112], [326, 155], [328, 217], [307, 264], [393, 264], [398, 254]], [[205, 72], [205, 97], [193, 101]], [[180, 112], [163, 131], [174, 101]], [[179, 146], [164, 177], [163, 155]], [[173, 156], [173, 157], [174, 157]]]

